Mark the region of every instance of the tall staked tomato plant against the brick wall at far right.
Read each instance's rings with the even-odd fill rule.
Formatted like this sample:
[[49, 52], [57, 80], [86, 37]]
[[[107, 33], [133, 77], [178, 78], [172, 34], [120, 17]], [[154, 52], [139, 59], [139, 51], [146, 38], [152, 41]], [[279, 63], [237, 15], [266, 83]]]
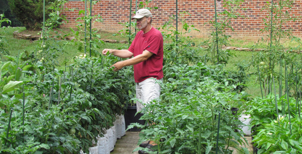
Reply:
[[[255, 54], [253, 65], [257, 66], [261, 62], [265, 62], [265, 65], [262, 66], [264, 69], [260, 68], [260, 74], [262, 75], [261, 85], [262, 87], [266, 87], [266, 94], [271, 93], [272, 76], [278, 76], [279, 83], [282, 82], [282, 80], [284, 81], [285, 75], [281, 75], [281, 69], [284, 65], [287, 65], [289, 68], [290, 65], [294, 65], [294, 61], [297, 61], [296, 56], [284, 54], [284, 51], [287, 49], [283, 46], [285, 42], [296, 41], [298, 46], [290, 47], [289, 51], [300, 50], [300, 39], [292, 35], [290, 28], [284, 27], [287, 23], [300, 20], [300, 17], [295, 17], [289, 13], [293, 6], [293, 2], [294, 1], [290, 0], [267, 2], [266, 6], [262, 9], [262, 11], [270, 13], [266, 18], [262, 19], [265, 27], [261, 30], [262, 32], [267, 33], [267, 38], [262, 38], [262, 40], [268, 40], [268, 45], [265, 50]], [[285, 9], [289, 11], [284, 11]], [[278, 72], [276, 72], [276, 67], [278, 65], [280, 65], [279, 75], [277, 75]], [[279, 95], [281, 95], [281, 93]]]

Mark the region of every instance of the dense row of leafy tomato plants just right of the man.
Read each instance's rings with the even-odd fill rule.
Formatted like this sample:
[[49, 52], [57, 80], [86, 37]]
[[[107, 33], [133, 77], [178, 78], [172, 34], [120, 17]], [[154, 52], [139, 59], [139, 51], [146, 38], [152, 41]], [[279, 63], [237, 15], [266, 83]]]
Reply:
[[[202, 153], [216, 150], [218, 112], [221, 113], [218, 139], [219, 152], [231, 153], [230, 142], [244, 144], [242, 134], [235, 132], [242, 124], [231, 111], [232, 107], [246, 102], [246, 93], [232, 93], [232, 85], [222, 85], [211, 78], [202, 63], [198, 65], [173, 65], [161, 85], [161, 97], [145, 105], [141, 119], [149, 125], [130, 125], [144, 128], [139, 143], [154, 140], [158, 153], [197, 153], [201, 144]], [[207, 74], [208, 76], [202, 76]], [[219, 89], [223, 89], [220, 91]], [[155, 124], [150, 124], [155, 123]], [[201, 123], [201, 127], [199, 124]], [[201, 140], [198, 132], [201, 130]], [[226, 148], [225, 148], [226, 147]], [[136, 148], [135, 150], [142, 149]], [[241, 149], [248, 153], [246, 148]]]

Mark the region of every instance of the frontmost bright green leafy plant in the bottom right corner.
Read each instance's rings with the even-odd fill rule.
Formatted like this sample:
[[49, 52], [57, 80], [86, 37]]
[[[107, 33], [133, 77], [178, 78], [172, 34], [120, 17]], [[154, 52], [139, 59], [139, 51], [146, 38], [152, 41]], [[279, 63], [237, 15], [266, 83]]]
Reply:
[[292, 135], [289, 131], [288, 115], [279, 116], [277, 120], [264, 123], [258, 129], [257, 135], [252, 140], [255, 142], [259, 153], [296, 153], [302, 150], [301, 119], [298, 116], [291, 118]]

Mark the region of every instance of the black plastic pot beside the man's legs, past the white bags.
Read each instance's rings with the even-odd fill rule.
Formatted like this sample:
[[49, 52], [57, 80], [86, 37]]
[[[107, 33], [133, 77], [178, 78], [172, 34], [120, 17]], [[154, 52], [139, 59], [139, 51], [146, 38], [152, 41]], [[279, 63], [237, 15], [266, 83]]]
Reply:
[[[138, 113], [136, 116], [136, 106], [128, 106], [127, 110], [125, 111], [125, 125], [126, 128], [131, 124], [131, 123], [139, 123], [143, 125], [145, 123], [145, 120], [139, 120], [139, 118], [143, 115], [142, 113]], [[128, 131], [140, 131], [140, 128], [133, 127], [131, 129], [128, 129]]]

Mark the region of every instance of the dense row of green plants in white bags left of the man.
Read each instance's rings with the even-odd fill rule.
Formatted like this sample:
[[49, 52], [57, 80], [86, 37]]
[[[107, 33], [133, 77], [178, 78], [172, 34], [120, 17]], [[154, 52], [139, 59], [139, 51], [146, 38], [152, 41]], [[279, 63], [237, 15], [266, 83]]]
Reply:
[[[6, 56], [1, 64], [1, 145], [9, 153], [88, 151], [133, 98], [133, 73], [113, 57], [75, 58], [69, 71]], [[22, 95], [23, 94], [23, 95]]]

